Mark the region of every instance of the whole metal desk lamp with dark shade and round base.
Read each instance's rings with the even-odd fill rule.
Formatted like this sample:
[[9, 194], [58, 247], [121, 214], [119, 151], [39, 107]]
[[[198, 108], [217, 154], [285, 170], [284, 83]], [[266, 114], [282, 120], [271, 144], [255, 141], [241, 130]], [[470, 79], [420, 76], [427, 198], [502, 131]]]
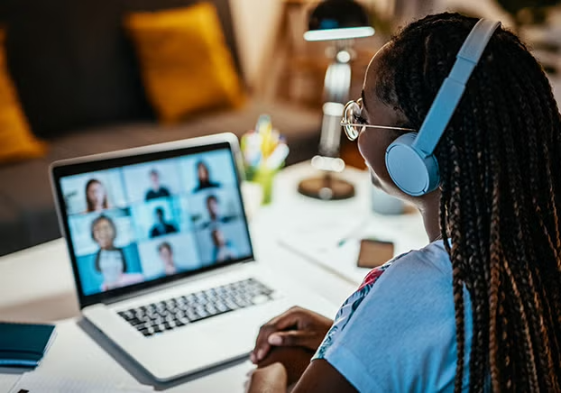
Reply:
[[354, 186], [336, 177], [336, 173], [345, 169], [345, 162], [339, 158], [341, 119], [351, 87], [353, 40], [373, 34], [368, 14], [354, 0], [325, 0], [309, 16], [304, 39], [333, 41], [335, 57], [326, 71], [318, 155], [312, 159], [312, 166], [323, 173], [302, 180], [298, 187], [300, 194], [325, 200], [354, 197]]

